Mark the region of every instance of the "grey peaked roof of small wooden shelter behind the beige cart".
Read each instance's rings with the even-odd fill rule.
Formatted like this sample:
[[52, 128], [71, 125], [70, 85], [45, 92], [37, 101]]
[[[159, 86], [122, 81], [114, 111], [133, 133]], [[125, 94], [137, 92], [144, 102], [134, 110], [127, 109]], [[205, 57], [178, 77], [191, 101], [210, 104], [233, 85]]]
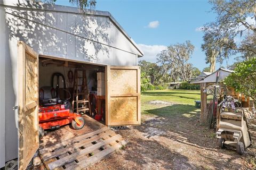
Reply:
[[233, 73], [233, 70], [227, 70], [227, 69], [218, 69], [215, 72], [211, 73], [210, 75], [207, 75], [205, 78], [198, 80], [198, 81], [191, 81], [191, 84], [198, 84], [198, 83], [214, 83], [216, 81], [217, 73], [220, 73], [219, 75], [219, 81], [225, 79], [229, 74]]

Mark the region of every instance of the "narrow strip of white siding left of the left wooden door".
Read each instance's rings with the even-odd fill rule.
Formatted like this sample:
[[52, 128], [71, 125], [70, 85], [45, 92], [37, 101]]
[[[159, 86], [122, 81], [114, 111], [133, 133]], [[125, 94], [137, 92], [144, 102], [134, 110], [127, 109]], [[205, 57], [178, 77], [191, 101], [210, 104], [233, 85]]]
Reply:
[[[0, 167], [18, 156], [17, 133], [17, 39], [8, 35], [4, 7], [0, 6]], [[14, 30], [15, 31], [15, 30]]]

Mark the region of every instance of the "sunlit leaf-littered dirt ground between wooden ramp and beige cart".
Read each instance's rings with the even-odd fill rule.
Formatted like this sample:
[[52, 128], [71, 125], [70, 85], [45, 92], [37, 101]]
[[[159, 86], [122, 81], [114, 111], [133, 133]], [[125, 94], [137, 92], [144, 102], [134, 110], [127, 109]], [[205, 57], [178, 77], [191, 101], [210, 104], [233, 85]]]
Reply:
[[[125, 148], [87, 169], [256, 169], [255, 144], [243, 156], [219, 149], [215, 132], [194, 115], [142, 115], [140, 126], [116, 131], [129, 141]], [[250, 128], [255, 141], [255, 119]]]

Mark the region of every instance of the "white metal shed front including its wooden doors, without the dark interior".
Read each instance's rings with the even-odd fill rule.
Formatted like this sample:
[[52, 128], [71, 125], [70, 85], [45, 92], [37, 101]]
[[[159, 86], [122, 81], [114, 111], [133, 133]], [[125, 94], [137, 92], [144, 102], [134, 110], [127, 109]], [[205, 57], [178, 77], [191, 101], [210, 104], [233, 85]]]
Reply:
[[[26, 63], [23, 60], [27, 60], [22, 55], [25, 53], [34, 55], [34, 63], [38, 62], [38, 57], [44, 57], [104, 67], [106, 125], [140, 124], [140, 70], [137, 58], [143, 56], [143, 52], [109, 12], [81, 12], [75, 7], [0, 0], [0, 24], [0, 167], [21, 154], [18, 151], [19, 137], [29, 126], [26, 121], [22, 122], [24, 117], [21, 120], [20, 114], [26, 112], [21, 108], [38, 105], [38, 100], [33, 101], [34, 104], [23, 101], [28, 97], [26, 90], [22, 91], [27, 86], [26, 66], [22, 64]], [[34, 73], [38, 74], [38, 67], [35, 67]], [[119, 75], [117, 73], [122, 73], [122, 76], [113, 81], [113, 76]], [[118, 87], [110, 82], [115, 82]], [[132, 83], [129, 91], [125, 87], [122, 89], [125, 83]], [[22, 95], [24, 99], [21, 99]], [[135, 109], [130, 113], [133, 120], [127, 116], [123, 122], [113, 121], [115, 116], [118, 117], [111, 115], [115, 112], [111, 108], [117, 97], [123, 97], [130, 103], [134, 101]], [[134, 97], [135, 100], [130, 100]], [[21, 101], [24, 106], [21, 106]], [[30, 136], [23, 138], [29, 140]]]

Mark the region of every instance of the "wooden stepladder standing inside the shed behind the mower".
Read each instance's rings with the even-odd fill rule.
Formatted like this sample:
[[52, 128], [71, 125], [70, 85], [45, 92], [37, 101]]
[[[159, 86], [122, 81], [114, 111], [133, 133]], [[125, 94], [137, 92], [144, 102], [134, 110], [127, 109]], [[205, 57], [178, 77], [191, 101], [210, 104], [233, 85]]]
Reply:
[[[82, 84], [79, 84], [81, 82]], [[86, 111], [89, 111], [91, 115], [91, 105], [85, 70], [75, 70], [73, 89], [73, 110], [77, 113], [85, 113]]]

